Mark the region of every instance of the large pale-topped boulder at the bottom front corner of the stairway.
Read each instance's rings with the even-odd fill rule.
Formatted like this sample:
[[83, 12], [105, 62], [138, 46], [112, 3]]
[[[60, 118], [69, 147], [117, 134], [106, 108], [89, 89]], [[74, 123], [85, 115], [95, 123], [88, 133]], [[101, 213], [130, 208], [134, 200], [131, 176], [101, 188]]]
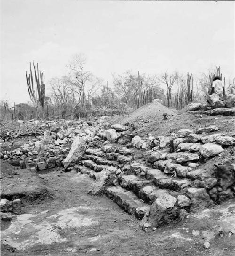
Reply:
[[179, 216], [176, 198], [169, 193], [160, 195], [150, 207], [149, 221], [153, 226], [169, 224]]

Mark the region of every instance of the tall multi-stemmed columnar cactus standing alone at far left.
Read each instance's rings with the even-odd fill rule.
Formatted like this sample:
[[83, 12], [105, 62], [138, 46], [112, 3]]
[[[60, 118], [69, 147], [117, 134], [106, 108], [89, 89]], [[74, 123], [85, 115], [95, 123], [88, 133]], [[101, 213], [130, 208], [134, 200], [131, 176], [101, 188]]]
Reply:
[[33, 62], [34, 68], [34, 79], [31, 70], [31, 63], [30, 63], [30, 74], [27, 74], [26, 71], [26, 80], [28, 86], [28, 92], [30, 99], [33, 105], [36, 108], [36, 118], [38, 119], [38, 108], [39, 105], [42, 107], [42, 112], [44, 110], [44, 102], [45, 102], [45, 74], [44, 71], [39, 71], [39, 64], [37, 63], [37, 69]]

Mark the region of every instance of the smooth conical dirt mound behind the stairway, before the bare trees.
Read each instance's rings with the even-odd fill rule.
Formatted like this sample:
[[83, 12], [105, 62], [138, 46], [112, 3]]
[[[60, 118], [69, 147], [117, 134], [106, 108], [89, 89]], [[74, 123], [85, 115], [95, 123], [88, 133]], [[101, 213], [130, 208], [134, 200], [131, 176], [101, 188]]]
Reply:
[[166, 113], [167, 116], [174, 116], [177, 114], [177, 111], [169, 109], [159, 103], [158, 100], [154, 100], [152, 103], [144, 105], [131, 114], [129, 116], [120, 116], [117, 122], [126, 123], [133, 122], [139, 119], [163, 119], [163, 113]]

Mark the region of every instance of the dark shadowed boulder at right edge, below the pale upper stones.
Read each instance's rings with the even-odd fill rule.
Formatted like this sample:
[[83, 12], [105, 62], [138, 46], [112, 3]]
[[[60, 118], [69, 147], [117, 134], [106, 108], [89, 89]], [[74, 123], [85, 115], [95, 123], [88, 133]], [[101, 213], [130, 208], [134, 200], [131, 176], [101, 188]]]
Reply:
[[235, 183], [234, 173], [234, 165], [228, 161], [223, 165], [217, 166], [215, 176], [218, 179], [218, 185], [222, 188], [223, 191]]

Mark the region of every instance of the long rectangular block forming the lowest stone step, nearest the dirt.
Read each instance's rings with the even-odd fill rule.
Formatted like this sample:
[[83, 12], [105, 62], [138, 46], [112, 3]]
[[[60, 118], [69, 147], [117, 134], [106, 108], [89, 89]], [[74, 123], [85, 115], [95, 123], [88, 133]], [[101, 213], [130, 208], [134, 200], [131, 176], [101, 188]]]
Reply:
[[140, 200], [132, 191], [126, 191], [120, 186], [109, 187], [106, 190], [107, 196], [116, 202], [121, 208], [131, 215], [142, 219], [149, 205]]

